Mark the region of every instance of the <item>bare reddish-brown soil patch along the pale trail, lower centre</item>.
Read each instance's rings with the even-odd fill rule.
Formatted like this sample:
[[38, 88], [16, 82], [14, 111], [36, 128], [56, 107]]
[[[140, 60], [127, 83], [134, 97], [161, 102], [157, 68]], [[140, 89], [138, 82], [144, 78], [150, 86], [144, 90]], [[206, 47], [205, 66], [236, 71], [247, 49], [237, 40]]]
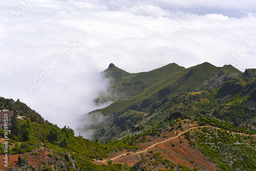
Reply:
[[[196, 127], [197, 125], [184, 125], [184, 130], [175, 130], [172, 132], [169, 132], [168, 130], [161, 134], [161, 137], [151, 137], [147, 136], [147, 138], [152, 139], [152, 142], [146, 142], [146, 143], [139, 143], [137, 144], [139, 147], [142, 148], [140, 151], [144, 151], [149, 146], [154, 145], [159, 142], [163, 142], [169, 138], [177, 137], [177, 135], [180, 135], [182, 132], [185, 132], [188, 129], [191, 129], [191, 127]], [[177, 133], [178, 132], [178, 133]], [[163, 137], [167, 138], [163, 138]], [[180, 139], [183, 141], [180, 143]], [[171, 144], [175, 143], [175, 146], [172, 146]], [[206, 170], [216, 170], [216, 166], [214, 163], [210, 162], [210, 160], [204, 156], [200, 151], [197, 149], [194, 149], [192, 146], [190, 146], [182, 136], [174, 138], [172, 140], [166, 141], [164, 143], [157, 144], [156, 146], [151, 147], [146, 152], [143, 152], [144, 158], [146, 158], [147, 162], [146, 165], [150, 167], [152, 170], [159, 170], [166, 169], [163, 164], [158, 164], [158, 166], [150, 166], [148, 165], [149, 162], [153, 162], [153, 159], [150, 159], [148, 151], [153, 151], [153, 153], [161, 153], [161, 156], [163, 156], [163, 159], [168, 159], [175, 164], [181, 163], [187, 167], [195, 168], [200, 167], [201, 169]], [[127, 151], [117, 152], [110, 154], [109, 156], [113, 159], [119, 155], [122, 155], [122, 157], [116, 158], [113, 160], [113, 163], [127, 163], [129, 165], [134, 165], [138, 161], [142, 160], [142, 156], [140, 154], [132, 154], [133, 152], [130, 152], [130, 155], [126, 155], [125, 153], [129, 153]], [[146, 157], [146, 154], [147, 157]], [[152, 156], [152, 155], [151, 155]], [[104, 159], [108, 160], [108, 159]], [[107, 162], [102, 161], [94, 161], [95, 164], [106, 164]]]

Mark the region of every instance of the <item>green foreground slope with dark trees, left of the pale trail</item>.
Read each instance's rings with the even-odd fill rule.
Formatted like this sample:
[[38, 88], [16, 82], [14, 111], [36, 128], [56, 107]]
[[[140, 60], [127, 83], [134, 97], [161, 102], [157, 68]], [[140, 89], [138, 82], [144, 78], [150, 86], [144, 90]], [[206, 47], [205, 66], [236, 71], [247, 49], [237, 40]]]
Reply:
[[[15, 165], [9, 163], [8, 167], [1, 170], [131, 170], [131, 166], [122, 164], [96, 165], [94, 159], [108, 158], [108, 154], [117, 149], [130, 149], [136, 151], [134, 137], [131, 140], [113, 140], [101, 144], [75, 136], [74, 130], [64, 126], [61, 129], [48, 121], [45, 121], [35, 111], [19, 100], [0, 97], [0, 106], [3, 109], [13, 110], [12, 125], [8, 134], [8, 155], [23, 155], [23, 158]], [[24, 120], [18, 116], [26, 116]], [[0, 138], [5, 137], [4, 129], [0, 129]], [[0, 143], [0, 154], [6, 154], [6, 145]], [[46, 148], [44, 148], [44, 146]], [[39, 151], [35, 151], [39, 149]], [[42, 149], [42, 150], [40, 150]], [[47, 158], [45, 158], [48, 153]], [[36, 166], [34, 160], [43, 158], [44, 162]], [[35, 160], [36, 160], [35, 159]], [[37, 162], [37, 161], [36, 161]], [[33, 165], [33, 166], [32, 166]], [[15, 168], [14, 168], [15, 167]]]

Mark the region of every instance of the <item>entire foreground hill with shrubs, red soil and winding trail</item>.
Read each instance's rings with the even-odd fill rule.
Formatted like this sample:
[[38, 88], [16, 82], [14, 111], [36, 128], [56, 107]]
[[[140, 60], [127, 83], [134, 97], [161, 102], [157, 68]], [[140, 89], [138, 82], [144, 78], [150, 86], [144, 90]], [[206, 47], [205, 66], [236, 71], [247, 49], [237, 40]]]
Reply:
[[155, 122], [133, 127], [125, 137], [101, 144], [98, 139], [93, 142], [75, 137], [69, 127], [59, 129], [25, 118], [19, 123], [20, 137], [12, 133], [11, 127], [12, 140], [0, 139], [1, 157], [6, 154], [6, 141], [9, 155], [8, 167], [4, 162], [0, 167], [95, 171], [256, 169], [256, 131], [251, 125], [234, 126], [203, 110], [195, 117], [176, 112]]

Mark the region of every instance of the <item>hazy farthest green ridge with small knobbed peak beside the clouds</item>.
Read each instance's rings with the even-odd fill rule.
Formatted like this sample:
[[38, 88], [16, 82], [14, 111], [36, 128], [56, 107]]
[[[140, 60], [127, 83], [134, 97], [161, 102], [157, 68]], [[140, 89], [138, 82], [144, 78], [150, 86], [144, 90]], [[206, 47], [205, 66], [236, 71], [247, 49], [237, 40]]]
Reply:
[[184, 69], [184, 67], [180, 67], [176, 63], [170, 63], [167, 66], [150, 72], [132, 74], [119, 69], [111, 63], [109, 68], [103, 72], [105, 77], [109, 78], [111, 82], [109, 93], [102, 94], [95, 99], [95, 102], [100, 104], [106, 101], [129, 99], [141, 94], [142, 91], [148, 89], [153, 84]]

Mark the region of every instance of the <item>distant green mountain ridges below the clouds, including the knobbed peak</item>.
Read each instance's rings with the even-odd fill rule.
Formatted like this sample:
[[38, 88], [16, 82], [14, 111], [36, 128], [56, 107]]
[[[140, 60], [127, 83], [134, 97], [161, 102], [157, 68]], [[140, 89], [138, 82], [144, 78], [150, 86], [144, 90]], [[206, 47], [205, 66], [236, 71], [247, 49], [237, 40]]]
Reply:
[[[110, 90], [115, 91], [116, 94], [127, 95], [128, 99], [118, 100], [110, 106], [99, 110], [103, 115], [126, 112], [127, 109], [148, 112], [153, 103], [163, 98], [173, 97], [181, 92], [198, 91], [202, 86], [218, 87], [225, 79], [225, 76], [241, 74], [239, 70], [232, 66], [220, 68], [207, 62], [188, 69], [171, 63], [151, 72], [125, 73], [129, 75], [129, 79], [126, 79], [125, 74], [123, 77], [123, 73], [123, 70], [115, 66], [105, 70], [106, 77], [111, 77], [115, 80]], [[216, 81], [212, 81], [215, 83], [207, 83], [209, 80]]]

